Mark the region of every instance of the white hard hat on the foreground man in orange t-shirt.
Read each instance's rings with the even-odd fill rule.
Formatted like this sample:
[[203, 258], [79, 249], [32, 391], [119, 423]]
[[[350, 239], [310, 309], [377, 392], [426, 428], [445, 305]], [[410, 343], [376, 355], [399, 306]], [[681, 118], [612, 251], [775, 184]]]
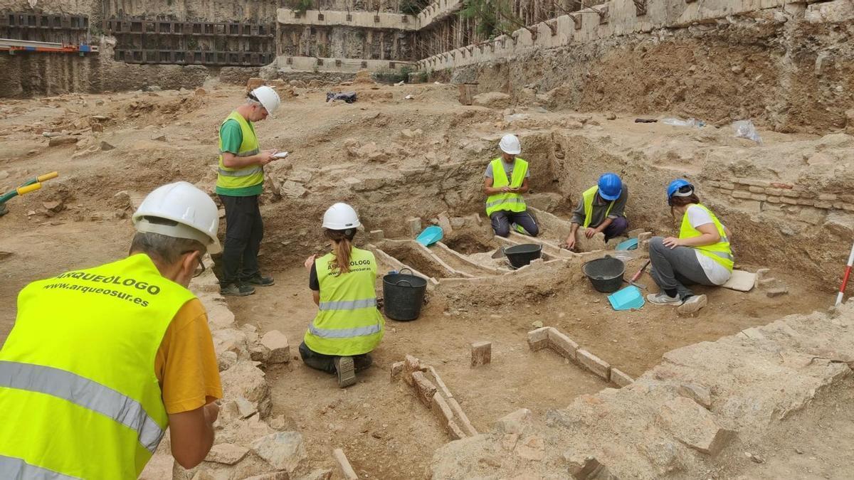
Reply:
[[[144, 217], [173, 220], [178, 225], [156, 224]], [[140, 232], [197, 240], [208, 246], [209, 254], [222, 251], [216, 236], [219, 229], [216, 203], [208, 194], [187, 182], [163, 185], [149, 193], [133, 214], [133, 226]]]

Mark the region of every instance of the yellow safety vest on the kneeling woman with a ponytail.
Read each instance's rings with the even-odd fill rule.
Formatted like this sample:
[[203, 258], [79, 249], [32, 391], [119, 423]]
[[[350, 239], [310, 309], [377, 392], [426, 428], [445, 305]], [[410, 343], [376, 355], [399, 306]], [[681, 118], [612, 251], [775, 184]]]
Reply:
[[333, 254], [314, 261], [320, 284], [317, 316], [303, 340], [319, 354], [366, 354], [383, 339], [385, 320], [377, 310], [377, 260], [366, 250], [352, 249], [347, 273], [333, 268]]

